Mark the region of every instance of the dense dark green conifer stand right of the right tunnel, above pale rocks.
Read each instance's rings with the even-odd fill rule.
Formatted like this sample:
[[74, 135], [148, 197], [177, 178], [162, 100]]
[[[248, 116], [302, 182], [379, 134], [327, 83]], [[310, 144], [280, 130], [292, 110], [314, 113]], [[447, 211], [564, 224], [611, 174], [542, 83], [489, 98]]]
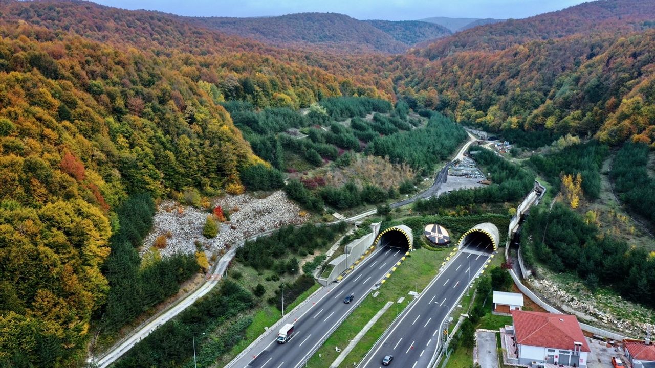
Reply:
[[574, 272], [591, 289], [606, 285], [622, 297], [655, 306], [655, 259], [556, 203], [534, 208], [523, 225], [521, 250], [526, 261], [555, 272]]

